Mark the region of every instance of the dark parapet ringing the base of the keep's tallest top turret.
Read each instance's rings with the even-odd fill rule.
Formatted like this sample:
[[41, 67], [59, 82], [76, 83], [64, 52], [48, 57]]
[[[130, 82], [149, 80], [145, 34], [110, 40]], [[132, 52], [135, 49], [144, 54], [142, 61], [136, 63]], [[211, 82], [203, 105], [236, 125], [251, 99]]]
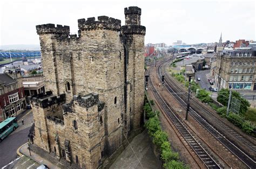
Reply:
[[142, 25], [125, 25], [122, 26], [122, 34], [142, 34], [145, 36], [146, 27]]

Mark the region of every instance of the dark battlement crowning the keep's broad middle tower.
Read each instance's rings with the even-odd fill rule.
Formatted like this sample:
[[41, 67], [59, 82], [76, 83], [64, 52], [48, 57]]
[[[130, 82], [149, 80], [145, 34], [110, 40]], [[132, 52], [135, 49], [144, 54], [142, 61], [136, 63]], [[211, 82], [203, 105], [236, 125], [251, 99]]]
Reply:
[[87, 20], [78, 19], [78, 28], [82, 31], [90, 31], [96, 29], [120, 31], [121, 20], [109, 18], [107, 16], [99, 16], [98, 20], [95, 17], [87, 18]]

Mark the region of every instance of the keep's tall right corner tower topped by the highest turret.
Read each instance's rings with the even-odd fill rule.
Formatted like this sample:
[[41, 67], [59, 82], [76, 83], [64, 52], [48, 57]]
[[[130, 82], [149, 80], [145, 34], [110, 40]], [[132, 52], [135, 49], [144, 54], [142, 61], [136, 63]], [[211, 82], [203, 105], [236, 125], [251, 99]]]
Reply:
[[[124, 9], [125, 26], [122, 26], [125, 59], [126, 112], [129, 112], [132, 129], [138, 129], [144, 103], [144, 37], [146, 27], [140, 25], [142, 10], [137, 6]], [[126, 90], [125, 89], [125, 90]], [[124, 91], [125, 93], [125, 91]], [[130, 130], [130, 129], [128, 129]]]

